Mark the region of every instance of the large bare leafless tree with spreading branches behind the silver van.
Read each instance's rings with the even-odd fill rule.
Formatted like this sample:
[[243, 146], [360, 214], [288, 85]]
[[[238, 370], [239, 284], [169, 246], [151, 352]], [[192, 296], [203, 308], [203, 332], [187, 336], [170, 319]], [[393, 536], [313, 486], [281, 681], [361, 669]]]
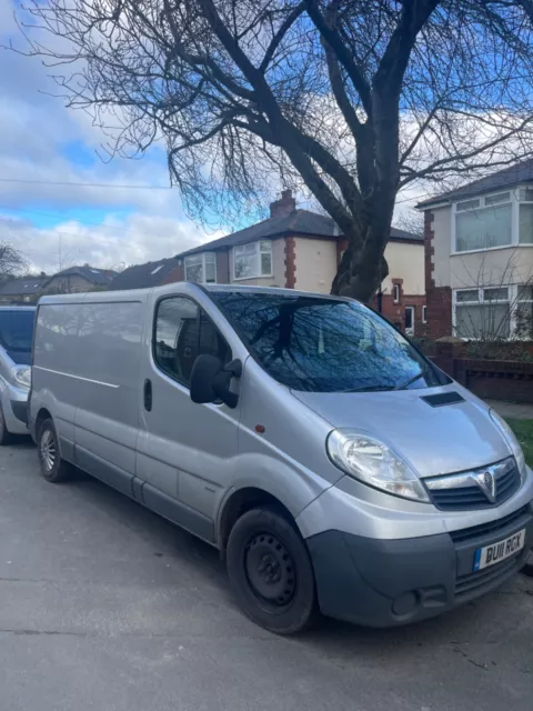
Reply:
[[400, 189], [441, 189], [533, 147], [532, 0], [33, 0], [27, 12], [28, 53], [67, 104], [110, 129], [111, 154], [163, 140], [194, 218], [242, 219], [280, 176], [309, 190], [349, 240], [335, 293], [369, 300], [386, 276]]

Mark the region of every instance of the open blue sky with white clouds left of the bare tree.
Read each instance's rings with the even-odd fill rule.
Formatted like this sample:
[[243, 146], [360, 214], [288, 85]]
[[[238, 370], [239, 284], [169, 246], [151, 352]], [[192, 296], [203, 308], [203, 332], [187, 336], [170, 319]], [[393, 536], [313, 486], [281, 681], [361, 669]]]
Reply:
[[[16, 4], [0, 0], [0, 44], [22, 49]], [[105, 136], [53, 91], [38, 58], [0, 48], [0, 241], [20, 250], [31, 271], [119, 269], [227, 233], [188, 219], [162, 148], [142, 160], [102, 161]]]

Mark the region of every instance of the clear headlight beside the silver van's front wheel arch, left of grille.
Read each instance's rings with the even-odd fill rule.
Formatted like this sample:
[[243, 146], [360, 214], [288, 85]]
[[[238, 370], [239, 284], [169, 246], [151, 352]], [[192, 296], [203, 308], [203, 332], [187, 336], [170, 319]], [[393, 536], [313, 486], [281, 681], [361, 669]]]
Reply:
[[390, 447], [369, 434], [333, 430], [326, 441], [333, 463], [350, 477], [403, 499], [430, 503], [413, 470]]

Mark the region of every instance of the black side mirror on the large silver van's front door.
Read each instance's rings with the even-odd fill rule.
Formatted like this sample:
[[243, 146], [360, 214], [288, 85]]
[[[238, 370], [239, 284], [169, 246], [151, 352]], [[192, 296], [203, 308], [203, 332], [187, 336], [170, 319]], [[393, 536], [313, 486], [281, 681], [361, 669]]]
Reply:
[[199, 404], [222, 400], [229, 408], [237, 408], [239, 398], [230, 391], [231, 379], [242, 373], [240, 360], [232, 360], [223, 367], [214, 356], [199, 356], [191, 372], [191, 400]]

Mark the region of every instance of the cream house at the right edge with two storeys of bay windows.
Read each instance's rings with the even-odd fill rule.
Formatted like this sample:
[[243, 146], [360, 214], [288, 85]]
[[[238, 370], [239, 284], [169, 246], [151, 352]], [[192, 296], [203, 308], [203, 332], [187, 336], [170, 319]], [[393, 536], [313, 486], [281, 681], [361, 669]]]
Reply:
[[428, 334], [533, 336], [533, 159], [416, 206]]

